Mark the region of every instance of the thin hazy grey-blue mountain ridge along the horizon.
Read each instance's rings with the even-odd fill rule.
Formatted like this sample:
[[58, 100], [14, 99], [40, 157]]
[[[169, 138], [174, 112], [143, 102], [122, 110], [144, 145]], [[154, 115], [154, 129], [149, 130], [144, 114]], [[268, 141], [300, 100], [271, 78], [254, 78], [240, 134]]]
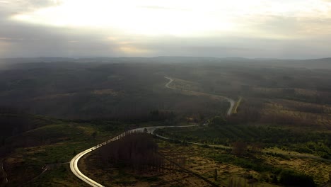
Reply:
[[36, 62], [100, 62], [100, 63], [233, 63], [267, 65], [272, 67], [296, 67], [308, 69], [331, 69], [331, 57], [309, 60], [281, 60], [274, 58], [244, 58], [244, 57], [182, 57], [182, 56], [159, 56], [159, 57], [89, 57], [89, 58], [66, 58], [66, 57], [31, 57], [31, 58], [3, 58], [0, 59], [0, 67], [13, 64], [36, 63]]

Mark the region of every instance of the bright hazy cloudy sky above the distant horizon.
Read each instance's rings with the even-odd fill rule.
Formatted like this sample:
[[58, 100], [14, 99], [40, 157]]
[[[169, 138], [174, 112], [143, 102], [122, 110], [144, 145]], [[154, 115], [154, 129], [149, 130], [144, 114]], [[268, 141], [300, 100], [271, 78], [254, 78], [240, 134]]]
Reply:
[[331, 0], [0, 0], [0, 57], [331, 57]]

